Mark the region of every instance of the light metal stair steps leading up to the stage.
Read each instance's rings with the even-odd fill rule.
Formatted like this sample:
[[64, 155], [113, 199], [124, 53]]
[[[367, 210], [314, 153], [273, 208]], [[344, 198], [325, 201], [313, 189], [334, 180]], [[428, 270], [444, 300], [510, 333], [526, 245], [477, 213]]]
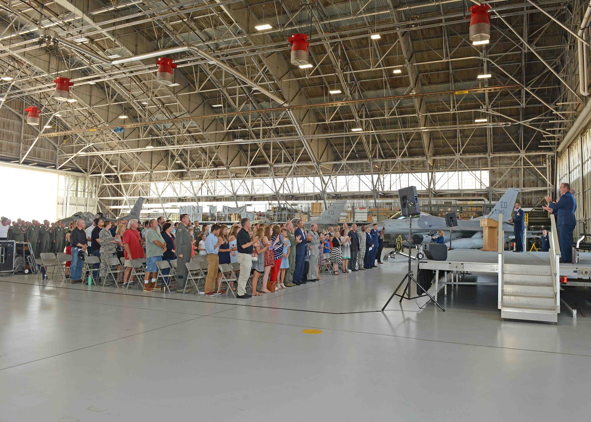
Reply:
[[557, 322], [550, 265], [505, 264], [501, 318]]

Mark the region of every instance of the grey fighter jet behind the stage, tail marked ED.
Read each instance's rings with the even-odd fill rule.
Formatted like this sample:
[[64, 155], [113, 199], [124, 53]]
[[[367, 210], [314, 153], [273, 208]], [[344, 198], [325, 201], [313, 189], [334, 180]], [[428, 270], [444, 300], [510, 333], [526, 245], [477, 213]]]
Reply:
[[[493, 218], [498, 219], [499, 213], [503, 215], [503, 230], [505, 238], [514, 237], [513, 225], [509, 224], [511, 213], [515, 206], [515, 200], [519, 189], [509, 188], [501, 197], [499, 202], [486, 216], [480, 216], [470, 220], [457, 220], [457, 226], [452, 228], [452, 249], [480, 249], [483, 246], [482, 227], [480, 219]], [[378, 228], [383, 228], [384, 233], [408, 235], [408, 217], [398, 217], [378, 222]], [[423, 235], [424, 243], [431, 241], [431, 236], [436, 235], [437, 231], [443, 230], [446, 245], [449, 248], [449, 227], [446, 226], [445, 219], [436, 217], [424, 212], [420, 216], [413, 217], [413, 234]], [[511, 233], [511, 236], [509, 236]]]

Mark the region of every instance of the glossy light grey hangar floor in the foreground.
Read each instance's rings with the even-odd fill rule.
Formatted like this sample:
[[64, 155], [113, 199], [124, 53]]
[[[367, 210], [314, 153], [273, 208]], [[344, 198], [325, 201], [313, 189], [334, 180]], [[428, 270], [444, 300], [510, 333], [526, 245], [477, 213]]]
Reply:
[[2, 277], [0, 420], [586, 420], [587, 318], [483, 285], [379, 312], [405, 265], [242, 301]]

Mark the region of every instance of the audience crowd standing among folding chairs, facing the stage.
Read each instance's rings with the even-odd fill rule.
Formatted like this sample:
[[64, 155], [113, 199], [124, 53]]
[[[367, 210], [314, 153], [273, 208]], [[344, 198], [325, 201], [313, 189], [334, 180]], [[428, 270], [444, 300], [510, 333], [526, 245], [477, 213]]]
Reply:
[[[2, 218], [2, 226], [9, 226]], [[141, 231], [140, 231], [141, 228]], [[69, 263], [71, 283], [82, 283], [83, 255], [99, 258], [100, 264], [93, 267], [92, 277], [107, 281], [109, 258], [124, 258], [124, 285], [129, 282], [132, 261], [145, 258], [144, 291], [154, 291], [157, 282], [158, 261], [177, 260], [176, 285], [171, 291], [190, 293], [193, 289], [187, 283], [187, 262], [195, 254], [207, 259], [207, 278], [203, 294], [216, 296], [226, 293], [220, 289], [222, 273], [220, 264], [237, 262], [240, 265], [238, 286], [239, 298], [261, 296], [282, 288], [322, 280], [323, 268], [333, 275], [350, 271], [369, 270], [381, 264], [384, 245], [382, 232], [378, 226], [344, 223], [342, 227], [329, 227], [326, 232], [319, 231], [316, 223], [304, 229], [304, 221], [287, 223], [256, 223], [242, 219], [229, 227], [204, 223], [199, 225], [189, 220], [189, 215], [180, 216], [180, 222], [165, 220], [164, 217], [146, 220], [141, 225], [138, 220], [111, 220], [96, 218], [86, 227], [85, 220], [69, 223], [68, 228], [59, 221], [43, 225], [33, 221], [26, 225], [17, 220], [10, 226], [9, 238], [22, 241], [35, 241], [38, 256], [41, 252], [66, 252], [72, 256]], [[36, 241], [35, 235], [43, 232], [43, 239], [51, 233], [49, 241]], [[0, 228], [0, 237], [2, 229]], [[33, 243], [31, 243], [32, 247]], [[248, 255], [248, 256], [247, 256]], [[332, 268], [331, 268], [332, 267]], [[332, 271], [330, 271], [332, 270]], [[163, 272], [168, 274], [168, 272]], [[246, 280], [252, 273], [252, 291], [247, 294]], [[260, 286], [260, 287], [259, 287]]]

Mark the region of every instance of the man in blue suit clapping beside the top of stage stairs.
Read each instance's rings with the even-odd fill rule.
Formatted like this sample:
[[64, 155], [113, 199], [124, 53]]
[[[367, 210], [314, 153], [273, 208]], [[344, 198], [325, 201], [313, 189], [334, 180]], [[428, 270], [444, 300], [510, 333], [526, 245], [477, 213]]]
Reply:
[[577, 225], [574, 212], [577, 210], [577, 201], [570, 191], [570, 184], [561, 183], [559, 190], [560, 199], [557, 202], [552, 202], [550, 196], [545, 197], [548, 205], [544, 209], [557, 215], [556, 226], [560, 236], [558, 243], [560, 244], [561, 262], [572, 262], [573, 230]]

